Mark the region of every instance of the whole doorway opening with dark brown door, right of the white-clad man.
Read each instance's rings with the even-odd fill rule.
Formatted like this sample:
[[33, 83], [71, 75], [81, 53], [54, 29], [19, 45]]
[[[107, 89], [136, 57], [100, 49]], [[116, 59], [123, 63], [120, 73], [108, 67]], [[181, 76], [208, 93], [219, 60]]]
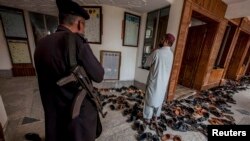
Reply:
[[179, 73], [180, 85], [200, 90], [217, 28], [217, 22], [198, 12], [192, 13]]

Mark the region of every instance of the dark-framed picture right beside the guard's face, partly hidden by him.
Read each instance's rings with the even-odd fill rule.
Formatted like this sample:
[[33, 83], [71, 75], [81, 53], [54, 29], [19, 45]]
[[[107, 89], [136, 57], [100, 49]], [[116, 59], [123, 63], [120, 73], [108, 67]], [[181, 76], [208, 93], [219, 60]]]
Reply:
[[83, 6], [89, 13], [89, 20], [85, 21], [85, 37], [89, 43], [102, 43], [102, 7], [101, 6]]

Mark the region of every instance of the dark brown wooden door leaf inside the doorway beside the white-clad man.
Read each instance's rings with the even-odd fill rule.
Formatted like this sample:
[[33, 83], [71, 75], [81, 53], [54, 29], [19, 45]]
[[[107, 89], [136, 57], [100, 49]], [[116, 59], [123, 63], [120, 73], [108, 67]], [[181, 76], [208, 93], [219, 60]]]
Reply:
[[183, 86], [193, 87], [206, 33], [207, 25], [189, 28], [179, 76], [179, 83]]

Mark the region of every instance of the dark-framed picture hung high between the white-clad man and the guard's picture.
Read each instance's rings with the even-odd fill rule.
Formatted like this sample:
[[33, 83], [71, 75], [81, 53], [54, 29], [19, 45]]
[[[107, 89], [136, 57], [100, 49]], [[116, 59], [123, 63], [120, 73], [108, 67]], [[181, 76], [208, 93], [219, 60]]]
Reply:
[[123, 46], [138, 46], [140, 22], [140, 16], [127, 12], [124, 13]]

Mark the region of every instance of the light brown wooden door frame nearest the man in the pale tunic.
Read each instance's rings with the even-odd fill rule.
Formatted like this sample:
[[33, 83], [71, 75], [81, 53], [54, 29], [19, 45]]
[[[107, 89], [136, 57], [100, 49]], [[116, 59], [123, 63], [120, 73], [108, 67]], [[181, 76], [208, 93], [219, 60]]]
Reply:
[[[192, 0], [184, 1], [180, 27], [179, 27], [179, 33], [178, 33], [178, 37], [176, 40], [176, 48], [174, 51], [174, 61], [173, 61], [172, 72], [170, 76], [170, 83], [169, 83], [169, 88], [168, 88], [167, 97], [166, 97], [168, 101], [174, 99], [174, 94], [175, 94], [175, 90], [176, 90], [177, 83], [178, 83], [178, 77], [180, 73], [180, 67], [182, 63], [185, 43], [187, 39], [189, 23], [191, 21], [193, 11], [200, 13], [206, 17], [209, 17], [210, 19], [213, 19], [214, 21], [217, 21], [219, 23], [216, 34], [215, 34], [215, 38], [213, 41], [213, 45], [211, 47], [211, 52], [209, 54], [209, 60], [208, 62], [205, 62], [207, 64], [206, 73], [204, 73], [204, 79], [202, 80], [203, 83], [200, 85], [201, 89], [202, 89], [202, 86], [208, 82], [210, 72], [213, 69], [213, 64], [216, 59], [216, 57], [214, 57], [214, 54], [217, 55], [217, 53], [219, 52], [218, 46], [220, 46], [220, 43], [222, 42], [222, 38], [223, 38], [222, 34], [224, 34], [226, 30], [227, 20], [221, 17], [217, 17], [215, 14], [209, 12], [207, 9], [192, 2]], [[220, 34], [218, 34], [218, 32], [220, 32]]]

